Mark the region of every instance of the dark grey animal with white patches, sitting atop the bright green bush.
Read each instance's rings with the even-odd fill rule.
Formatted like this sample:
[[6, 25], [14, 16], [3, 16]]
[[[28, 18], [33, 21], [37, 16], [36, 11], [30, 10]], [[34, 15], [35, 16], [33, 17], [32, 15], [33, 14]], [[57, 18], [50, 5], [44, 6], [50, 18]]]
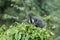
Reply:
[[43, 20], [41, 18], [39, 18], [37, 16], [32, 16], [32, 15], [28, 15], [27, 23], [33, 24], [36, 27], [40, 27], [40, 28], [43, 28], [45, 26], [45, 23], [43, 22]]

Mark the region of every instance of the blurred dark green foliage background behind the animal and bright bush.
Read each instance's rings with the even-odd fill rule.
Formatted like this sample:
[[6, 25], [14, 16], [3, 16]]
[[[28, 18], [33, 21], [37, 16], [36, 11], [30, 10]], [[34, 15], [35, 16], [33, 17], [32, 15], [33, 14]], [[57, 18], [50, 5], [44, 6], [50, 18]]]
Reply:
[[0, 0], [0, 35], [24, 22], [29, 12], [42, 18], [53, 32], [51, 40], [60, 40], [60, 0]]

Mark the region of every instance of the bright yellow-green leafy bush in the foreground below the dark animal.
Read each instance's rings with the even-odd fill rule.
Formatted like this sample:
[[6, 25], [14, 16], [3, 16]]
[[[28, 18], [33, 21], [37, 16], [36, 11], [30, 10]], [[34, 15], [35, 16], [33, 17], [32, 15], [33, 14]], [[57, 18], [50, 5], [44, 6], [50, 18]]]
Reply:
[[46, 28], [22, 23], [11, 25], [10, 29], [0, 35], [0, 40], [50, 40], [50, 34]]

